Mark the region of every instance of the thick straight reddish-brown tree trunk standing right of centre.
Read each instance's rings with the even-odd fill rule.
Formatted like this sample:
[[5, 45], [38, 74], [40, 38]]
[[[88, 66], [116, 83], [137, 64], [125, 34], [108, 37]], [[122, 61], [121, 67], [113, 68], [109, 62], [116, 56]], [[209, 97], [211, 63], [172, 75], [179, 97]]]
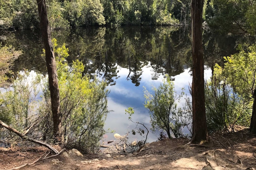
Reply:
[[208, 140], [204, 96], [204, 67], [202, 43], [203, 0], [191, 1], [192, 37], [192, 110], [193, 127], [191, 142]]

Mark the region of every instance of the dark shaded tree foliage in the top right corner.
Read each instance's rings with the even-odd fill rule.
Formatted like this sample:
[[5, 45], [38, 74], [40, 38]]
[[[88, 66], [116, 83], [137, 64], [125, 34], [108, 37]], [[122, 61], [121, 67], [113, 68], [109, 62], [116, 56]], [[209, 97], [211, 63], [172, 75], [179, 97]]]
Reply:
[[211, 0], [207, 2], [205, 19], [221, 33], [254, 32], [255, 1]]

